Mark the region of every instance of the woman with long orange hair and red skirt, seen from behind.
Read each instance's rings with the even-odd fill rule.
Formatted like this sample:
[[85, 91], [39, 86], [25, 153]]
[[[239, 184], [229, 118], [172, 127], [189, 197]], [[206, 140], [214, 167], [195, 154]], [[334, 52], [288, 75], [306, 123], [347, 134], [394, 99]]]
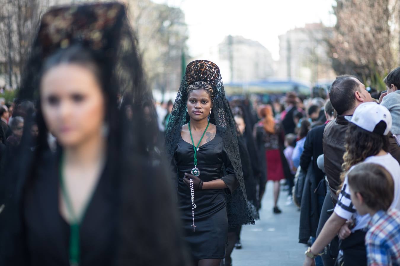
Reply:
[[[286, 159], [282, 156], [284, 135], [279, 124], [274, 121], [272, 107], [270, 105], [260, 106], [260, 117], [262, 118], [255, 126], [254, 138], [258, 146], [258, 153], [261, 158], [265, 157], [264, 171], [266, 178], [260, 186], [260, 198], [264, 194], [266, 181], [274, 181], [274, 213], [281, 213], [278, 208], [279, 181], [285, 177], [284, 165]], [[285, 160], [285, 162], [283, 162]], [[287, 166], [287, 162], [286, 162]]]

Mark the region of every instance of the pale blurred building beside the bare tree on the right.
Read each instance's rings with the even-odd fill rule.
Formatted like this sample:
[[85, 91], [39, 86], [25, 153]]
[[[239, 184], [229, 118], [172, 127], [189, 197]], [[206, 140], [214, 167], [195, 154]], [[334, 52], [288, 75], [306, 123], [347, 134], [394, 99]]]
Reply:
[[276, 75], [311, 83], [335, 79], [336, 74], [324, 41], [330, 34], [332, 28], [316, 23], [280, 35]]

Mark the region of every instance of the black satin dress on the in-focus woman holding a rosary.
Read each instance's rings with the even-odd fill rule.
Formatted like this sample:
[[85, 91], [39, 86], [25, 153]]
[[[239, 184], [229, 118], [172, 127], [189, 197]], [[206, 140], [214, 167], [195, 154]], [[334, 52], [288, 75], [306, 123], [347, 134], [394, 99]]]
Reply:
[[[213, 140], [199, 147], [197, 168], [200, 170], [199, 178], [204, 182], [222, 179], [228, 186], [225, 192], [231, 193], [238, 186], [238, 181], [223, 147], [222, 137], [217, 131]], [[194, 260], [222, 259], [228, 236], [224, 189], [194, 191], [194, 203], [197, 208], [194, 209], [196, 228], [193, 232], [190, 188], [183, 181], [184, 173], [190, 173], [194, 168], [193, 160], [193, 145], [181, 137], [176, 144], [174, 161], [178, 179], [178, 208], [184, 227], [185, 240], [191, 249]], [[223, 171], [223, 166], [225, 171]]]

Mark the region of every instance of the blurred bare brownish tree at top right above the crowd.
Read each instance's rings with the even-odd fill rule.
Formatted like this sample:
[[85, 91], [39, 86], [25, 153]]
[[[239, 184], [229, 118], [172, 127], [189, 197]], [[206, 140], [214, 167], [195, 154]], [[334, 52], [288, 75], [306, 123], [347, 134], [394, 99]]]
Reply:
[[[390, 20], [397, 5], [389, 0], [336, 0], [337, 23], [326, 38], [337, 74], [352, 74], [381, 87], [382, 77], [397, 63]], [[397, 13], [398, 16], [398, 13]]]

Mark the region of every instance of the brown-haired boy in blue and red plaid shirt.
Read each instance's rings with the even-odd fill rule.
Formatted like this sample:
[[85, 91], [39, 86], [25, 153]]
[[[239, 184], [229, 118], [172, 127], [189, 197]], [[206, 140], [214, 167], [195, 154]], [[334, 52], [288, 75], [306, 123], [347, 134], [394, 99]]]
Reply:
[[362, 163], [348, 173], [348, 184], [357, 212], [372, 217], [365, 236], [368, 265], [400, 266], [400, 211], [389, 209], [392, 176], [378, 164]]

